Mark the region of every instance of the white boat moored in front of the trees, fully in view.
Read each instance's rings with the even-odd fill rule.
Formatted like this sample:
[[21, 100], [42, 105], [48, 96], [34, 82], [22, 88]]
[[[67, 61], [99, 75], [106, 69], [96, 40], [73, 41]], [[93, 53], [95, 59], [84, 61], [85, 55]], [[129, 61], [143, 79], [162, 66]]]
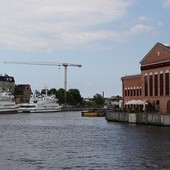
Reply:
[[22, 113], [58, 112], [61, 108], [55, 95], [48, 96], [47, 94], [33, 94], [29, 103], [18, 104], [18, 112]]

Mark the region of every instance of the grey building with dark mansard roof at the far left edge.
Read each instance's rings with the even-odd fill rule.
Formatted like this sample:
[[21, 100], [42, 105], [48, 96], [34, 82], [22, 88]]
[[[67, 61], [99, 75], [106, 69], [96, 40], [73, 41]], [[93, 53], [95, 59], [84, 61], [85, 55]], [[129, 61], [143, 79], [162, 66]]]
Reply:
[[15, 90], [15, 80], [14, 77], [8, 76], [7, 74], [0, 75], [0, 90], [2, 91], [10, 91], [14, 94]]

